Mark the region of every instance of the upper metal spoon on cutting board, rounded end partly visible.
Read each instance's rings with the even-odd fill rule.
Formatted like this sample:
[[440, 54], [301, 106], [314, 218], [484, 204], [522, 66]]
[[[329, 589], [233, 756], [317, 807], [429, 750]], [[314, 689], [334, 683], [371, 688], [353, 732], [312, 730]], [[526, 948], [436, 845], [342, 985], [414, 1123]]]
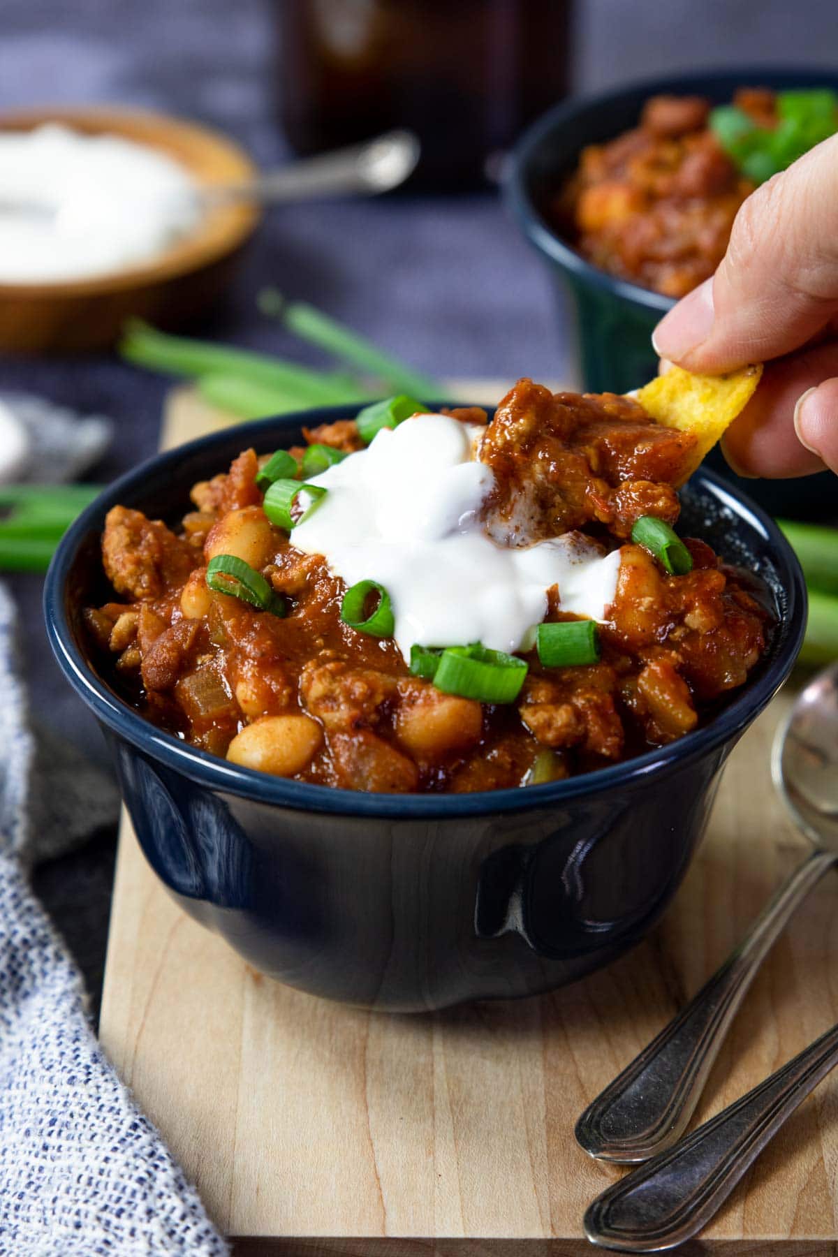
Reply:
[[697, 996], [582, 1114], [575, 1135], [592, 1156], [646, 1161], [680, 1139], [760, 964], [838, 861], [838, 665], [819, 672], [798, 696], [774, 740], [771, 776], [815, 850]]

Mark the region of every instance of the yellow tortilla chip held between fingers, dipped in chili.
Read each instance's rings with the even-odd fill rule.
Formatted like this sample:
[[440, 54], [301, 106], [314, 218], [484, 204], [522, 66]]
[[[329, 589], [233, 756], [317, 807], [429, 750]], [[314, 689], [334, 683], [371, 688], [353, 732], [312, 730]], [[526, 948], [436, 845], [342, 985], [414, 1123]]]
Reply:
[[[691, 432], [696, 446], [680, 484], [692, 475], [704, 456], [753, 397], [761, 366], [743, 367], [726, 376], [694, 376], [671, 367], [634, 393], [650, 419], [663, 427]], [[676, 485], [677, 488], [677, 485]]]

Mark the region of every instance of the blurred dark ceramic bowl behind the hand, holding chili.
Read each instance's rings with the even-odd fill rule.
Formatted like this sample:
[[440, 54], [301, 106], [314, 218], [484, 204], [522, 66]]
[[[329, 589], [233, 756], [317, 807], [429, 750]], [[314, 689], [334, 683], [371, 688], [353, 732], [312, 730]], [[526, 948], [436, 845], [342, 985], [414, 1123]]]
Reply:
[[[739, 87], [832, 87], [838, 73], [813, 69], [696, 72], [634, 83], [601, 96], [570, 101], [550, 109], [524, 133], [508, 168], [506, 195], [524, 235], [541, 256], [558, 288], [569, 293], [577, 313], [582, 380], [589, 392], [628, 392], [657, 371], [652, 329], [675, 304], [648, 288], [617, 279], [592, 266], [549, 226], [544, 207], [574, 170], [585, 145], [613, 140], [637, 126], [651, 96], [704, 96], [726, 103]], [[832, 518], [834, 478], [824, 471], [802, 480], [743, 480], [721, 454], [711, 465], [771, 514]]]

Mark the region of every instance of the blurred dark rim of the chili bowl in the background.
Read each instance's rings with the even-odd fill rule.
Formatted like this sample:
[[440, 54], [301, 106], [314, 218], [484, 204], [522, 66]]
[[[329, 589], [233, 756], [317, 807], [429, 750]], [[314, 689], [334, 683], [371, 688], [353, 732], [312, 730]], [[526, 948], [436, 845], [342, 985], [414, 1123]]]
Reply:
[[[538, 117], [515, 143], [506, 163], [504, 178], [505, 196], [530, 244], [538, 253], [547, 255], [563, 270], [584, 280], [589, 287], [607, 289], [622, 300], [642, 305], [661, 316], [672, 309], [676, 304], [673, 297], [665, 297], [651, 288], [642, 288], [629, 279], [621, 279], [618, 275], [612, 275], [607, 270], [594, 266], [553, 231], [529, 194], [530, 162], [557, 129], [578, 122], [592, 109], [599, 111], [633, 96], [650, 97], [687, 89], [700, 93], [702, 85], [706, 91], [711, 83], [739, 83], [741, 85], [749, 78], [756, 82], [761, 79], [769, 88], [773, 85], [770, 80], [774, 79], [778, 85], [778, 80], [781, 80], [783, 85], [800, 83], [804, 87], [825, 82], [838, 89], [838, 72], [834, 67], [829, 69], [825, 67], [818, 69], [810, 65], [799, 69], [789, 65], [707, 67], [706, 69], [676, 72], [648, 79], [632, 79], [629, 83], [608, 88], [604, 92], [592, 92], [563, 101]], [[584, 145], [577, 150], [577, 157], [582, 147]]]

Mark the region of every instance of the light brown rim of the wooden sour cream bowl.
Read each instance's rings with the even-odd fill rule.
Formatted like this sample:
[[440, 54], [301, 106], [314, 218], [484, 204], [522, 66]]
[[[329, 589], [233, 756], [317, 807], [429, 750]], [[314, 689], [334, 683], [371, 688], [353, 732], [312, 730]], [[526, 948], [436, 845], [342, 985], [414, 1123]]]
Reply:
[[[202, 148], [212, 148], [239, 170], [245, 180], [258, 173], [258, 167], [245, 148], [231, 136], [216, 127], [205, 126], [191, 118], [181, 118], [161, 109], [147, 109], [123, 104], [109, 104], [106, 101], [93, 104], [57, 104], [4, 109], [0, 112], [0, 133], [6, 131], [31, 131], [50, 122], [75, 128], [85, 134], [111, 133], [122, 140], [132, 140], [147, 148], [165, 153], [178, 161], [195, 178], [195, 171], [173, 155], [172, 150], [160, 143], [156, 137], [168, 133], [186, 143], [199, 143]], [[143, 136], [136, 134], [136, 128]], [[200, 180], [196, 180], [200, 184]], [[227, 258], [240, 249], [254, 234], [261, 220], [261, 211], [248, 201], [235, 202], [224, 207], [222, 230], [207, 231], [207, 222], [201, 220], [192, 231], [168, 245], [162, 253], [133, 266], [121, 266], [118, 270], [103, 272], [89, 278], [54, 279], [44, 283], [0, 282], [0, 302], [60, 302], [85, 298], [113, 297], [119, 293], [143, 288], [156, 288], [195, 274]]]

